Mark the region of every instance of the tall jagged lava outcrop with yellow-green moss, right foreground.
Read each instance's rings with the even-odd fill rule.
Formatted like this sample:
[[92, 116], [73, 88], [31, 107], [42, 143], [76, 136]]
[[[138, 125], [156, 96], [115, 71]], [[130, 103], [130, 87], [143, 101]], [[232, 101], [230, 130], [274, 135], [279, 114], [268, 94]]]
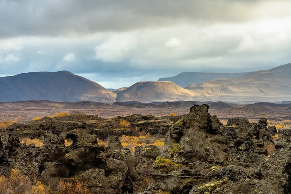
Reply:
[[[208, 109], [192, 107], [166, 134], [162, 155], [152, 166], [155, 189], [175, 194], [283, 194], [263, 170], [275, 156], [267, 120], [230, 119], [223, 127]], [[275, 178], [275, 170], [270, 171], [268, 178]], [[282, 185], [287, 182], [285, 178]]]

